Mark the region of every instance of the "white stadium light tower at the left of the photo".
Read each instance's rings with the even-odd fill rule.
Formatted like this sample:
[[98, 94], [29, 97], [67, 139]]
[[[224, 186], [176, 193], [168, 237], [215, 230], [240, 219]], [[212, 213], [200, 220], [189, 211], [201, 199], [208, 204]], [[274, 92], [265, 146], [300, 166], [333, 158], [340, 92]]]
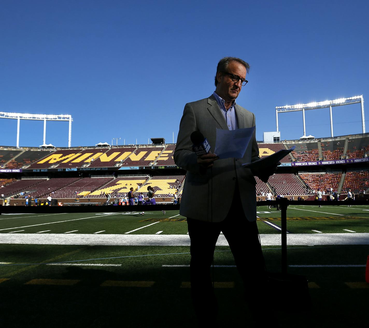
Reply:
[[11, 118], [18, 121], [17, 124], [17, 147], [19, 147], [19, 130], [20, 130], [20, 120], [37, 120], [44, 121], [44, 144], [46, 144], [46, 121], [68, 121], [68, 147], [72, 143], [72, 116], [71, 115], [44, 115], [44, 114], [23, 114], [23, 113], [6, 113], [0, 112], [0, 118]]

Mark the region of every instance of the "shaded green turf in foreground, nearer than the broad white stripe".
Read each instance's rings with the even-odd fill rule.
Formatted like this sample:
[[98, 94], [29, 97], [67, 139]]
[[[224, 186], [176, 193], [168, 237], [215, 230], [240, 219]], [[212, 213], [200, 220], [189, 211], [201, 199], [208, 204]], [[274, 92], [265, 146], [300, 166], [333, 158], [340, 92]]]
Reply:
[[[2, 245], [4, 259], [44, 262], [99, 259], [87, 263], [122, 264], [120, 267], [1, 266], [0, 284], [3, 327], [193, 327], [189, 289], [189, 268], [163, 268], [162, 265], [188, 264], [189, 247], [132, 247], [72, 245]], [[215, 265], [233, 265], [228, 247], [217, 247]], [[73, 253], [73, 251], [77, 251]], [[154, 255], [150, 254], [168, 254]], [[264, 247], [267, 267], [280, 271], [280, 247]], [[289, 264], [365, 264], [368, 247], [328, 246], [289, 247]], [[85, 262], [85, 263], [86, 263]], [[79, 262], [82, 263], [82, 262]], [[289, 273], [306, 275], [320, 287], [310, 289], [313, 309], [306, 313], [279, 313], [283, 327], [365, 327], [368, 289], [351, 289], [345, 282], [363, 282], [365, 268], [289, 268]], [[80, 280], [75, 286], [25, 285], [31, 279]], [[232, 314], [230, 324], [250, 321], [242, 300], [242, 282], [235, 268], [214, 268], [214, 279], [234, 282], [235, 288], [215, 289], [220, 305], [220, 323]], [[106, 280], [154, 281], [149, 288], [101, 287]], [[21, 295], [21, 297], [19, 297]], [[294, 308], [293, 299], [279, 303], [280, 295], [265, 296], [261, 306], [269, 311]], [[21, 309], [22, 315], [18, 315]], [[304, 310], [304, 309], [300, 309]], [[349, 315], [341, 315], [348, 313]], [[329, 315], [328, 315], [329, 314]], [[306, 317], [308, 315], [308, 317]], [[262, 318], [261, 318], [262, 320]], [[1, 322], [1, 321], [0, 321]], [[352, 326], [352, 327], [354, 327]]]

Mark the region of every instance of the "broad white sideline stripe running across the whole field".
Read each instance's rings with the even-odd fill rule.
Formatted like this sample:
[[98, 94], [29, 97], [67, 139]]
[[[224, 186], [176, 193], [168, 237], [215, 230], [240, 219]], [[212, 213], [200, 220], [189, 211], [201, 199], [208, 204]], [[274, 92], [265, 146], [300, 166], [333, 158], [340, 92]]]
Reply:
[[[281, 234], [261, 234], [262, 246], [281, 245]], [[0, 244], [190, 246], [188, 234], [0, 234]], [[369, 245], [369, 233], [287, 234], [287, 245]], [[220, 235], [217, 246], [228, 246]]]

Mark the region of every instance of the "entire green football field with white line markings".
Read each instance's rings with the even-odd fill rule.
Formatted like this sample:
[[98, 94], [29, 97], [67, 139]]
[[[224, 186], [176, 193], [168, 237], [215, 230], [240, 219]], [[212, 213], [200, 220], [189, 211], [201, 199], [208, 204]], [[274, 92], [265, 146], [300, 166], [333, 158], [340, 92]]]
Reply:
[[[266, 266], [278, 272], [281, 213], [257, 210]], [[313, 308], [289, 311], [293, 299], [271, 294], [266, 313], [282, 327], [369, 327], [369, 206], [290, 205], [287, 244], [288, 272], [307, 277]], [[2, 214], [0, 325], [194, 327], [189, 245], [178, 211]], [[221, 326], [247, 322], [223, 235], [212, 274]]]

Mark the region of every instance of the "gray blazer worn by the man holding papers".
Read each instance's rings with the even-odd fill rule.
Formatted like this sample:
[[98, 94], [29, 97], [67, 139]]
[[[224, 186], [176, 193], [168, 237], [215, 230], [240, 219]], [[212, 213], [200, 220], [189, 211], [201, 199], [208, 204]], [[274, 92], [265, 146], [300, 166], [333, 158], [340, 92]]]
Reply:
[[[255, 115], [235, 105], [238, 128], [255, 126]], [[214, 153], [216, 129], [228, 129], [214, 96], [186, 104], [179, 125], [175, 163], [187, 171], [183, 186], [180, 214], [185, 217], [209, 222], [221, 222], [230, 210], [235, 192], [240, 194], [245, 216], [256, 220], [256, 181], [251, 170], [242, 163], [259, 159], [255, 132], [243, 158], [226, 158], [214, 161], [212, 169], [200, 173], [197, 156], [192, 151], [190, 135], [200, 131], [210, 143]], [[235, 190], [236, 179], [238, 189]]]

